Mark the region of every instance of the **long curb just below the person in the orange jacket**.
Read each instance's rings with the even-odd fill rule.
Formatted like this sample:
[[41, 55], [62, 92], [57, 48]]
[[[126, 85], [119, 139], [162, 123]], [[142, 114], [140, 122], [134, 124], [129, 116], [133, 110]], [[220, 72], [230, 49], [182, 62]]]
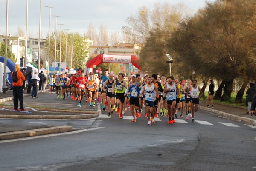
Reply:
[[79, 115], [11, 115], [0, 114], [1, 119], [53, 119], [53, 120], [80, 120], [98, 117], [99, 114], [79, 114]]

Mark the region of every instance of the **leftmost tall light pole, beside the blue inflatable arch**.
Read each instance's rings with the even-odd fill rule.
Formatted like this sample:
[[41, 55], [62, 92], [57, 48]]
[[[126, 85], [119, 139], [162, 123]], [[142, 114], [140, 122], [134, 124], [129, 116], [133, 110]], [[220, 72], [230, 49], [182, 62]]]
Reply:
[[[8, 9], [9, 0], [6, 0], [6, 39], [5, 39], [5, 51], [4, 51], [4, 69], [3, 69], [3, 94], [6, 92], [6, 65], [7, 65], [7, 33], [8, 33]], [[2, 83], [1, 83], [2, 84]]]

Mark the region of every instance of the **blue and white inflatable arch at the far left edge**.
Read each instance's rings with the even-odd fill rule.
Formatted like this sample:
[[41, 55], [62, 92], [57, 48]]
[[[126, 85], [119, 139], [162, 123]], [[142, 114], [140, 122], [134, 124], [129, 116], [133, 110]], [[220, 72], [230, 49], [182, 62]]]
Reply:
[[[0, 63], [3, 63], [3, 67], [0, 68], [0, 75], [3, 76], [3, 71], [4, 71], [4, 57], [0, 57]], [[6, 78], [9, 80], [9, 82], [11, 83], [11, 86], [12, 86], [12, 72], [14, 71], [14, 68], [15, 68], [15, 63], [10, 60], [10, 59], [7, 59], [6, 61]], [[1, 77], [0, 79], [0, 83], [2, 84], [3, 83], [3, 78]]]

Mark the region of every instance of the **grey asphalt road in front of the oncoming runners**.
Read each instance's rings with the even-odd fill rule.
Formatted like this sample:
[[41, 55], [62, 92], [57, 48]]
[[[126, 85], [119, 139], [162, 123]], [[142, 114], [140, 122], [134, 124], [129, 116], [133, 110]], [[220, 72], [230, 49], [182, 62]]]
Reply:
[[[132, 123], [129, 112], [124, 119], [106, 115], [91, 120], [21, 120], [79, 129], [0, 143], [0, 170], [256, 170], [255, 126], [206, 111], [196, 112], [195, 123], [179, 118], [171, 125], [166, 117], [147, 125], [145, 117]], [[5, 120], [9, 121], [17, 122]]]

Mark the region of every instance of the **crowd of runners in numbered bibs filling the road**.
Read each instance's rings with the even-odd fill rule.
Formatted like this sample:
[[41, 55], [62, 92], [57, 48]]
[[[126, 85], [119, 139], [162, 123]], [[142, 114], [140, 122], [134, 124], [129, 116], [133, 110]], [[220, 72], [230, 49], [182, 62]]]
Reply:
[[136, 122], [142, 117], [144, 107], [148, 125], [160, 116], [168, 117], [169, 124], [175, 123], [177, 111], [180, 112], [179, 117], [183, 118], [184, 113], [187, 120], [192, 118], [194, 122], [199, 99], [203, 95], [197, 80], [179, 80], [158, 74], [126, 77], [122, 73], [111, 74], [108, 69], [102, 76], [97, 73], [84, 75], [84, 72], [51, 76], [48, 83], [51, 94], [56, 91], [57, 98], [65, 100], [66, 96], [71, 96], [73, 101], [78, 101], [78, 107], [82, 101], [83, 105], [91, 107], [101, 105], [103, 111], [108, 110], [108, 117], [115, 111], [122, 119], [125, 111], [130, 110], [132, 122]]

